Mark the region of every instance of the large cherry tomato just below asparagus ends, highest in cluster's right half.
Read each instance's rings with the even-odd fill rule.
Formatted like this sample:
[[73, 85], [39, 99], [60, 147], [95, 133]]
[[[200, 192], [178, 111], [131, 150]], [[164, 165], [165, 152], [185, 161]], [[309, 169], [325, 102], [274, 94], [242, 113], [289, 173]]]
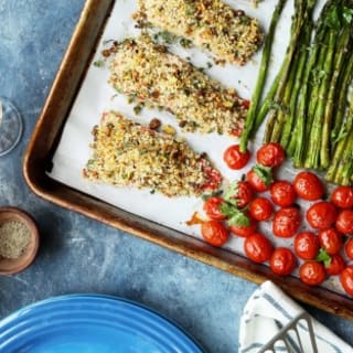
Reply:
[[297, 195], [307, 201], [315, 201], [323, 196], [324, 188], [321, 180], [311, 172], [300, 172], [293, 181]]

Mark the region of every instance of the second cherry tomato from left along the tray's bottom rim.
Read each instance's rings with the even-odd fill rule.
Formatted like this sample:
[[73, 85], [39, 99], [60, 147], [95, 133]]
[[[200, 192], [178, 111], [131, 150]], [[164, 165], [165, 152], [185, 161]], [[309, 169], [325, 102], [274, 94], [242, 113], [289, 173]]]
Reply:
[[272, 244], [261, 233], [254, 233], [245, 239], [244, 250], [254, 263], [265, 263], [271, 257]]

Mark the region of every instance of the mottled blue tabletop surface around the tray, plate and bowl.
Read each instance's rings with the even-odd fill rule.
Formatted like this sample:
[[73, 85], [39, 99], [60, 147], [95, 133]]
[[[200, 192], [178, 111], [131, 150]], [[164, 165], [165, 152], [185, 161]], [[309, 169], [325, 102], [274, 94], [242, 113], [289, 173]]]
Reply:
[[[0, 277], [0, 319], [52, 296], [99, 292], [153, 308], [210, 352], [237, 352], [242, 309], [256, 285], [62, 210], [24, 184], [22, 156], [83, 4], [0, 0], [0, 95], [24, 118], [20, 145], [0, 159], [0, 205], [30, 212], [42, 234], [34, 264]], [[308, 310], [353, 344], [353, 322]]]

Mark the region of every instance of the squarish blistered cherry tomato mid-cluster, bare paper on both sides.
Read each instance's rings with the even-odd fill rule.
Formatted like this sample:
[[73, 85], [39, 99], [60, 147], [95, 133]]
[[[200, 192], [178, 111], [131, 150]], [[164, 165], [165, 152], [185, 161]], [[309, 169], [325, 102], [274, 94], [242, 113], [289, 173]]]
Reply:
[[293, 236], [301, 222], [300, 212], [296, 207], [286, 207], [276, 212], [272, 223], [272, 232], [281, 238]]

